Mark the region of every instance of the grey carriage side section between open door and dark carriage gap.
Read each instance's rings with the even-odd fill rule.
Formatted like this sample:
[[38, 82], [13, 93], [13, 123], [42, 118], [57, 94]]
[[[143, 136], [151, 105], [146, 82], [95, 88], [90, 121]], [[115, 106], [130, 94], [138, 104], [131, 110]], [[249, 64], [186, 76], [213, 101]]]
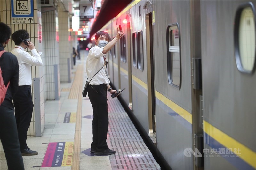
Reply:
[[[193, 169], [190, 2], [154, 1], [156, 140], [172, 169]], [[181, 10], [182, 9], [182, 10]]]

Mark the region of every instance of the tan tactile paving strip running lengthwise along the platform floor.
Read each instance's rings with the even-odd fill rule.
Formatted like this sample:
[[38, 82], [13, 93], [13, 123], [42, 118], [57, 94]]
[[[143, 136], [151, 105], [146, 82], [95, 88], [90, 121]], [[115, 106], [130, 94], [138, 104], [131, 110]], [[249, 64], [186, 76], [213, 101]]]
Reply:
[[[83, 62], [82, 62], [83, 63]], [[71, 170], [80, 169], [80, 147], [81, 147], [81, 123], [82, 123], [82, 92], [83, 87], [83, 64], [79, 64], [77, 67], [74, 82], [71, 86], [71, 90], [68, 99], [78, 99], [77, 112], [76, 112], [76, 129], [74, 138], [74, 149]]]

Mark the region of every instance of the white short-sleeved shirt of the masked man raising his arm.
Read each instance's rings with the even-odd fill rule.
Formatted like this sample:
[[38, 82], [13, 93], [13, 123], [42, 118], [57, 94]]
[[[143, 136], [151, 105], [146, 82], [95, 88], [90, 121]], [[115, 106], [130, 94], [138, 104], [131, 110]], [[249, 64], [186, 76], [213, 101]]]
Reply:
[[[101, 67], [104, 65], [104, 55], [103, 54], [104, 47], [98, 47], [94, 46], [90, 49], [86, 61], [86, 72], [88, 75], [88, 80], [92, 81], [90, 82], [90, 85], [100, 85], [100, 84], [106, 84], [109, 85], [110, 81], [108, 79], [108, 76], [106, 75], [106, 67], [104, 66], [102, 69]], [[101, 69], [101, 70], [100, 70]], [[100, 72], [98, 72], [100, 70]], [[98, 72], [98, 73], [97, 73]], [[96, 74], [97, 73], [97, 74]], [[92, 78], [94, 75], [96, 76]]]

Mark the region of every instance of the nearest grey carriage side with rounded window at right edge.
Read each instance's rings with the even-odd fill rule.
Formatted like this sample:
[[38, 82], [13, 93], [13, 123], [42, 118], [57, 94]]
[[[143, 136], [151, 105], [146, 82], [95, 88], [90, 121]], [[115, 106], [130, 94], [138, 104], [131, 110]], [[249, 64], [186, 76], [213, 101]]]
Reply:
[[255, 6], [201, 1], [205, 169], [256, 169]]

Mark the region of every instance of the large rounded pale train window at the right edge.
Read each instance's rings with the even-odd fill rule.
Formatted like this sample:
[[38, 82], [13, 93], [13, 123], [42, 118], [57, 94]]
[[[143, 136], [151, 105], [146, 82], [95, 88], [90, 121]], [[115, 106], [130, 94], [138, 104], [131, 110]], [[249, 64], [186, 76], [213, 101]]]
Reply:
[[243, 73], [255, 71], [255, 9], [249, 2], [238, 7], [235, 17], [234, 41], [236, 66]]

